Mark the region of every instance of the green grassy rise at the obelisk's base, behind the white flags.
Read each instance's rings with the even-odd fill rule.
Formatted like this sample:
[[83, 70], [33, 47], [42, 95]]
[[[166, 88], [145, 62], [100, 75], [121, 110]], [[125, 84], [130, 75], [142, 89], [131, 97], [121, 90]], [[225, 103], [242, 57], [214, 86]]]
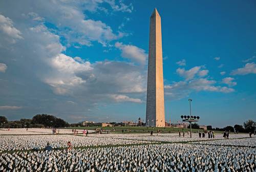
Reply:
[[[153, 131], [156, 133], [158, 130], [161, 131], [161, 133], [178, 133], [179, 131], [182, 132], [182, 128], [174, 128], [174, 127], [143, 127], [143, 126], [89, 126], [89, 127], [66, 127], [66, 129], [86, 129], [86, 130], [95, 130], [95, 128], [102, 128], [103, 130], [109, 130], [111, 133], [122, 133], [122, 130], [124, 133], [150, 133]], [[113, 129], [115, 128], [115, 131]], [[189, 131], [189, 128], [184, 128], [184, 132]], [[198, 131], [203, 131], [200, 129], [192, 129], [192, 133], [197, 133]], [[215, 133], [222, 133], [220, 131], [215, 131]]]

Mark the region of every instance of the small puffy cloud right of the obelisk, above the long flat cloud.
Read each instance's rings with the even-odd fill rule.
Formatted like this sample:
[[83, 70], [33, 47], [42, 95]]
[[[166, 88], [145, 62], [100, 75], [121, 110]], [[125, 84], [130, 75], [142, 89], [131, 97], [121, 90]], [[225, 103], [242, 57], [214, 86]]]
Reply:
[[186, 80], [190, 80], [193, 79], [196, 76], [199, 77], [204, 77], [206, 75], [208, 75], [208, 70], [201, 70], [202, 67], [200, 66], [196, 66], [194, 68], [191, 68], [189, 70], [185, 70], [184, 68], [178, 68], [176, 70], [177, 74], [179, 74], [180, 76], [184, 77]]

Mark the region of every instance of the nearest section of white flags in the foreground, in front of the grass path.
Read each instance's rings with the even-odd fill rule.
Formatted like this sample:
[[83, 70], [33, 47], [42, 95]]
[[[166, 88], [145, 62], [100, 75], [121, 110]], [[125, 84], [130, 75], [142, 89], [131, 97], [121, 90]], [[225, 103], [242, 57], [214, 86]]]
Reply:
[[254, 171], [256, 149], [146, 144], [50, 152], [4, 153], [9, 171]]

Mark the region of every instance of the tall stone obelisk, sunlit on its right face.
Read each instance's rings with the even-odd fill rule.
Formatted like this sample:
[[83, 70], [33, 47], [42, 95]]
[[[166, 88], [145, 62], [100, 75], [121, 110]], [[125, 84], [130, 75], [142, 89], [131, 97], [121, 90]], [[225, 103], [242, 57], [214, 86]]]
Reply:
[[164, 127], [161, 17], [156, 8], [150, 17], [150, 46], [147, 70], [146, 125]]

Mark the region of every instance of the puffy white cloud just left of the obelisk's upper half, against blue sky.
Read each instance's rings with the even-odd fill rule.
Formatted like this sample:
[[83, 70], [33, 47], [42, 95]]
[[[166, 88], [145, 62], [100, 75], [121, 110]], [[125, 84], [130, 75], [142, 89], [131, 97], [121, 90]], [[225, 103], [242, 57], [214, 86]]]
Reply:
[[116, 42], [115, 47], [122, 51], [121, 56], [124, 58], [129, 58], [142, 64], [146, 61], [147, 54], [141, 48], [133, 45], [123, 45], [122, 42]]

